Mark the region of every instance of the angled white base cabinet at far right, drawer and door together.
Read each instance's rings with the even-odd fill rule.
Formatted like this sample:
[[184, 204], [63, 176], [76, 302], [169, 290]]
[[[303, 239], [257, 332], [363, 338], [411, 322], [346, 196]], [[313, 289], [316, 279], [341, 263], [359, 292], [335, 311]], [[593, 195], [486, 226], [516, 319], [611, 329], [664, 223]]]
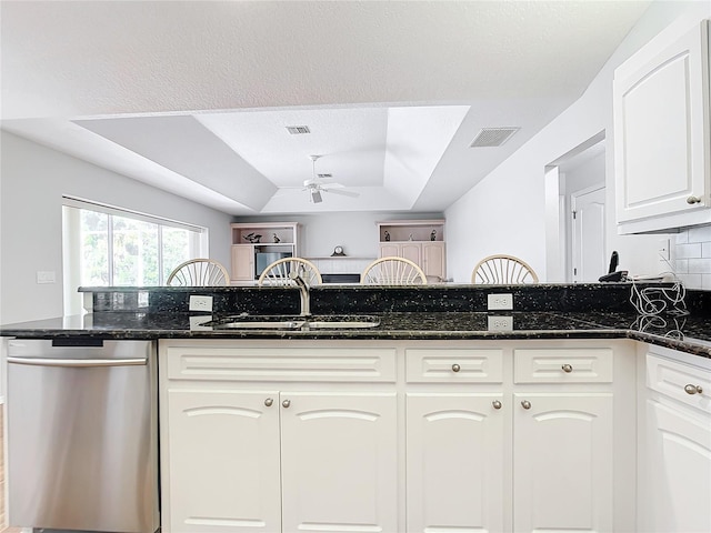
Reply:
[[711, 364], [683, 355], [650, 346], [640, 360], [638, 523], [649, 533], [711, 531]]

